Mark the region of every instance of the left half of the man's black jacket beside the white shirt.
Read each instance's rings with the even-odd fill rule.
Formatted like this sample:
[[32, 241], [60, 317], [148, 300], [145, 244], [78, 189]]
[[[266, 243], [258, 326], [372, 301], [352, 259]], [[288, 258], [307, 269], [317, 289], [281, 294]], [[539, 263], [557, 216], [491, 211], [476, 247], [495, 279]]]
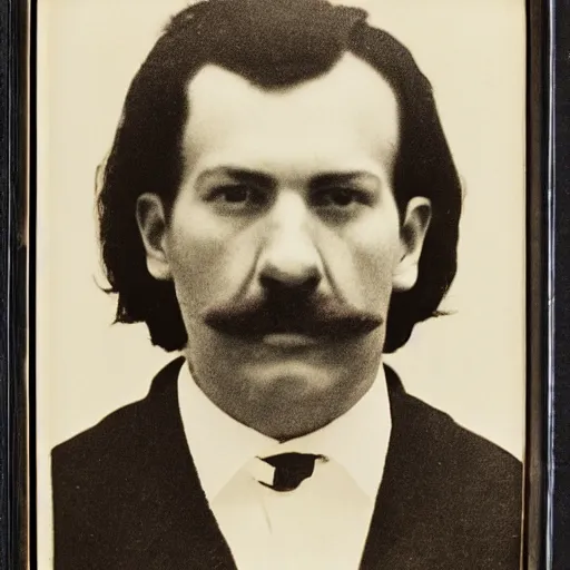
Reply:
[[[207, 568], [188, 566], [193, 550], [206, 559], [200, 548], [225, 549], [184, 435], [179, 365], [164, 368], [144, 400], [53, 449], [56, 570]], [[207, 528], [215, 548], [202, 541]], [[178, 550], [188, 542], [189, 552]]]

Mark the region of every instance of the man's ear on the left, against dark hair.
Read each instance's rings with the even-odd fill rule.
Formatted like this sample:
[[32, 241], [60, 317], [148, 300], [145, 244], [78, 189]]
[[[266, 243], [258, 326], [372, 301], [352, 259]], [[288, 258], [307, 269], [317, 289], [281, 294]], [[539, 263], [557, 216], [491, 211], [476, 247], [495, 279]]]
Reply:
[[141, 194], [137, 199], [137, 224], [147, 253], [148, 273], [155, 279], [170, 278], [166, 255], [166, 216], [163, 200], [156, 194]]

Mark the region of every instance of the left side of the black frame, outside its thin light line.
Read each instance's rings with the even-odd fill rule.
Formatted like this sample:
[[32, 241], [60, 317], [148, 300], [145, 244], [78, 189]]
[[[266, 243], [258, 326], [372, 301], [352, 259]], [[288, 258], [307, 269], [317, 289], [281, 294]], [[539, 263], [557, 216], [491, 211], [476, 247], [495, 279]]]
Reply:
[[[0, 3], [0, 569], [24, 568], [29, 558], [28, 470], [28, 372], [29, 335], [27, 287], [30, 73], [28, 4], [7, 0]], [[30, 62], [31, 63], [31, 62]], [[30, 186], [31, 187], [31, 186]], [[31, 200], [32, 202], [32, 200]], [[30, 202], [30, 206], [32, 206]], [[30, 305], [31, 308], [31, 305]]]

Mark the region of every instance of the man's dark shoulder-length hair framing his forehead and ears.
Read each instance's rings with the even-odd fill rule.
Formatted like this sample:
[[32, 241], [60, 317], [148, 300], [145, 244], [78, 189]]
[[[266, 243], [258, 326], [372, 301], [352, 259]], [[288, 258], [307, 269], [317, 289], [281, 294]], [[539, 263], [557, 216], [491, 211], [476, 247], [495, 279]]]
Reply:
[[158, 193], [167, 209], [176, 196], [189, 79], [209, 62], [267, 89], [294, 86], [325, 73], [345, 52], [368, 62], [396, 95], [400, 210], [414, 195], [432, 203], [417, 283], [391, 299], [385, 352], [438, 314], [456, 271], [461, 185], [429, 80], [409, 50], [366, 18], [364, 10], [325, 0], [207, 0], [171, 19], [130, 85], [98, 196], [102, 261], [109, 291], [118, 293], [117, 322], [146, 322], [153, 343], [167, 351], [187, 342], [173, 283], [147, 271], [135, 210], [142, 193]]

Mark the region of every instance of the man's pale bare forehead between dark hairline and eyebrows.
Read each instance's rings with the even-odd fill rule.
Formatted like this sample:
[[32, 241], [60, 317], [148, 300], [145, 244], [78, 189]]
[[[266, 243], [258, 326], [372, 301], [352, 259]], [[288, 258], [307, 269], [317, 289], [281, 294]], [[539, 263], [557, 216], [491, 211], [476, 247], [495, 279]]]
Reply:
[[395, 95], [375, 69], [351, 53], [328, 72], [279, 89], [208, 65], [187, 91], [189, 167], [380, 174], [391, 168], [397, 150]]

